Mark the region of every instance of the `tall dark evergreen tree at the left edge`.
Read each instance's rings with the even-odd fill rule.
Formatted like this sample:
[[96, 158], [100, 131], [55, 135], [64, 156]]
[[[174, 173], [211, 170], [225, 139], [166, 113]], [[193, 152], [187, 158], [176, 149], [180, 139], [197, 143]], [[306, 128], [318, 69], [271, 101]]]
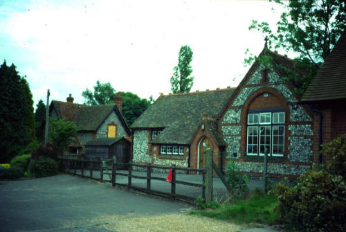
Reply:
[[35, 139], [33, 96], [16, 66], [0, 66], [0, 163], [8, 162]]

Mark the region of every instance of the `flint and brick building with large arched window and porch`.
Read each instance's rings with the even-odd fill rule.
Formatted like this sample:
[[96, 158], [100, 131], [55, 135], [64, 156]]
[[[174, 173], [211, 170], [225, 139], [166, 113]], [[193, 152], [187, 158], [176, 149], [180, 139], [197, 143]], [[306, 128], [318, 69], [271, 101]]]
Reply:
[[268, 151], [272, 176], [296, 176], [313, 163], [313, 111], [284, 84], [293, 60], [269, 51], [270, 64], [255, 62], [236, 89], [161, 95], [137, 121], [133, 161], [202, 168], [206, 148], [223, 170], [233, 160], [261, 175]]

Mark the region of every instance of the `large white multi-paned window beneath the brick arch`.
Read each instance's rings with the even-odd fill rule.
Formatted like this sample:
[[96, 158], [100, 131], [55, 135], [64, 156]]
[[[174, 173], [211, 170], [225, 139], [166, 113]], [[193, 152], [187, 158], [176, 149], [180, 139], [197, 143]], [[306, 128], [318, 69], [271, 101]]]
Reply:
[[[256, 116], [257, 115], [257, 119]], [[248, 114], [246, 154], [263, 156], [265, 149], [273, 157], [284, 156], [284, 112]]]

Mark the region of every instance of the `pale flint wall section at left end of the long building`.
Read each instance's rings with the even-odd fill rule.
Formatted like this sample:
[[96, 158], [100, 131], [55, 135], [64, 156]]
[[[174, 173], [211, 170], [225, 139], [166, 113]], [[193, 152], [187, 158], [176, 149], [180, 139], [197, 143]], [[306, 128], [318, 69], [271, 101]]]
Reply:
[[151, 163], [152, 157], [147, 154], [148, 150], [148, 136], [149, 132], [147, 130], [136, 130], [134, 131], [134, 140], [133, 140], [133, 162], [143, 162]]

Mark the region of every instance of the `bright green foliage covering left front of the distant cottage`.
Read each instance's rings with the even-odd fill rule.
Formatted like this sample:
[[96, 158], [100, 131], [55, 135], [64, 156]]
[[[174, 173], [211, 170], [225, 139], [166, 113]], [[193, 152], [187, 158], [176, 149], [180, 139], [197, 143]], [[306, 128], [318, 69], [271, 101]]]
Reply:
[[71, 138], [77, 136], [77, 127], [74, 122], [67, 122], [65, 118], [51, 119], [51, 141], [62, 153], [71, 143]]

